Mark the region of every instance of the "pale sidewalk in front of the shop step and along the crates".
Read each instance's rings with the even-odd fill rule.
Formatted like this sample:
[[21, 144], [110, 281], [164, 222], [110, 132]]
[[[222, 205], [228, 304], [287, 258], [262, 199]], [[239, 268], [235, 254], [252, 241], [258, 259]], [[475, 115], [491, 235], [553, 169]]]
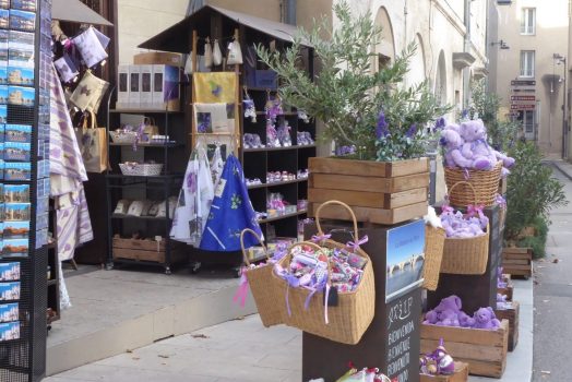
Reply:
[[[500, 380], [470, 377], [470, 382], [531, 381], [533, 362], [533, 282], [515, 280], [521, 302], [521, 335]], [[229, 302], [230, 303], [230, 302]], [[86, 344], [88, 346], [88, 344]], [[262, 326], [258, 315], [234, 320], [141, 349], [104, 359], [47, 382], [299, 382], [301, 332], [287, 326]]]

